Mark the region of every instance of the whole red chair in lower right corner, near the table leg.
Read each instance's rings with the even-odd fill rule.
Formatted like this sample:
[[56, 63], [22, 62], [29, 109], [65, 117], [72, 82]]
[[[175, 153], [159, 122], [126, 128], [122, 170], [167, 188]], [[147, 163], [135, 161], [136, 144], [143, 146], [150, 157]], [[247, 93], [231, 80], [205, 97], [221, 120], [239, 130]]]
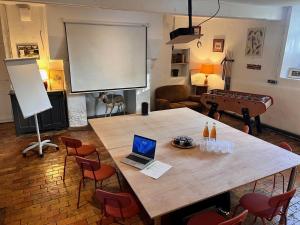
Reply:
[[253, 224], [256, 223], [259, 217], [263, 225], [266, 225], [265, 220], [272, 221], [275, 216], [283, 216], [284, 224], [286, 225], [288, 207], [295, 192], [296, 189], [273, 197], [259, 193], [246, 194], [240, 199], [234, 213], [239, 207], [242, 207], [255, 216]]

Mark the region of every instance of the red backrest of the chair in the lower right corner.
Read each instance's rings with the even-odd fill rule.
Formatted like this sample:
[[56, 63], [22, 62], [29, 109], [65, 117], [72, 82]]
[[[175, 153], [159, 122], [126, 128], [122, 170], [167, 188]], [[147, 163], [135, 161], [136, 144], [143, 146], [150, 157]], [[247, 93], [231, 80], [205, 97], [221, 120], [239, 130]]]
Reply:
[[272, 215], [271, 218], [278, 215], [279, 213], [285, 213], [282, 211], [286, 208], [288, 208], [291, 199], [296, 193], [296, 189], [293, 189], [291, 191], [285, 192], [280, 195], [276, 195], [270, 198], [269, 205], [272, 207]]

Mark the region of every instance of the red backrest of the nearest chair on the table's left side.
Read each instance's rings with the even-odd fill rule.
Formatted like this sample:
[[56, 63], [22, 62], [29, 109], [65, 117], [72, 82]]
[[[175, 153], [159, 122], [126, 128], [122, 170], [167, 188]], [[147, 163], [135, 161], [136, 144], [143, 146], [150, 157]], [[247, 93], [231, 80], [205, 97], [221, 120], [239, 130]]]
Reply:
[[96, 190], [96, 199], [104, 204], [104, 207], [126, 208], [131, 204], [131, 199], [124, 193], [111, 193], [101, 189]]

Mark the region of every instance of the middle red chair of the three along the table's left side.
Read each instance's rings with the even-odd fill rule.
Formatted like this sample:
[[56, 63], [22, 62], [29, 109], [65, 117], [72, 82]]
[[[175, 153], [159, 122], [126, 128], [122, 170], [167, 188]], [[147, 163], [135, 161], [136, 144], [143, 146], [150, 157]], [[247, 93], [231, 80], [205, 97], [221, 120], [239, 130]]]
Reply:
[[97, 183], [99, 181], [100, 181], [100, 188], [102, 188], [102, 182], [105, 179], [108, 179], [114, 174], [116, 174], [119, 187], [121, 189], [119, 175], [114, 167], [110, 165], [101, 164], [100, 161], [86, 159], [79, 156], [76, 156], [76, 162], [80, 166], [81, 174], [82, 174], [82, 177], [79, 181], [77, 208], [79, 208], [79, 202], [80, 202], [81, 183], [85, 185], [85, 179], [93, 180], [95, 183], [95, 190], [96, 190]]

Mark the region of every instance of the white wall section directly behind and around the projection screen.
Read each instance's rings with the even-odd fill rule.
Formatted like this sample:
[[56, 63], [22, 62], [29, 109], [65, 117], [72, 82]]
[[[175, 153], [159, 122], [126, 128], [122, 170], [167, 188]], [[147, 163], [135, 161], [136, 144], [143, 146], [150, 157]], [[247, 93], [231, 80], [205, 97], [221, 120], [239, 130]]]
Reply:
[[[47, 26], [49, 34], [49, 48], [51, 59], [63, 59], [65, 62], [65, 74], [68, 77], [68, 52], [66, 45], [66, 37], [63, 21], [81, 21], [81, 22], [112, 22], [112, 23], [142, 23], [149, 24], [148, 29], [148, 41], [149, 41], [149, 52], [157, 52], [157, 48], [160, 48], [162, 42], [162, 15], [156, 13], [142, 13], [142, 12], [129, 12], [129, 11], [117, 11], [117, 10], [103, 10], [99, 8], [89, 8], [89, 7], [70, 7], [70, 6], [57, 6], [57, 5], [47, 5]], [[159, 52], [159, 51], [158, 51]], [[153, 58], [149, 56], [148, 58]], [[148, 67], [152, 61], [148, 60]], [[156, 66], [164, 67], [164, 63], [161, 58], [155, 60], [153, 68]], [[156, 76], [155, 71], [153, 74], [148, 74], [148, 76]], [[148, 70], [148, 73], [150, 71]], [[137, 91], [136, 106], [137, 112], [140, 111], [140, 104], [143, 101], [150, 101], [150, 95], [148, 94], [150, 87], [141, 89]], [[68, 107], [69, 107], [69, 120], [72, 126], [81, 126], [82, 124], [87, 124], [85, 121], [77, 121], [78, 118], [83, 118], [83, 116], [78, 116], [86, 108], [82, 104], [76, 104], [75, 100], [70, 100], [76, 98], [78, 101], [85, 100], [85, 95], [68, 95]], [[81, 100], [79, 100], [81, 99]], [[90, 99], [89, 99], [90, 100]], [[90, 106], [88, 106], [90, 108]], [[101, 111], [101, 110], [100, 110]], [[74, 115], [74, 116], [73, 116]]]

